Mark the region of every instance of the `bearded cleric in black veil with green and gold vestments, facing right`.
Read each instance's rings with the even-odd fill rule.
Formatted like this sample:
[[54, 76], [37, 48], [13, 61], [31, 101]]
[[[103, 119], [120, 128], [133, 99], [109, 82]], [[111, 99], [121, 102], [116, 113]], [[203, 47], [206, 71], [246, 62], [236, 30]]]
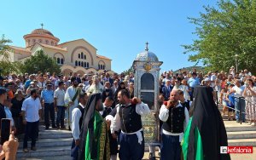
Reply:
[[103, 111], [101, 94], [91, 94], [86, 103], [79, 139], [79, 160], [109, 160], [108, 130], [110, 121], [100, 114]]

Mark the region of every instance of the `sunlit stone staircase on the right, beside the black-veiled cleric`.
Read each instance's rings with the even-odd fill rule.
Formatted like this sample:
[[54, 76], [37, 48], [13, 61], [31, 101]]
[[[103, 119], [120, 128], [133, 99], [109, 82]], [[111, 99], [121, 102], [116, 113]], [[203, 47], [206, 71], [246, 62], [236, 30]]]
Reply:
[[[218, 106], [218, 110], [222, 113], [223, 106]], [[256, 146], [256, 127], [228, 121], [227, 115], [224, 115], [223, 119], [229, 146]]]

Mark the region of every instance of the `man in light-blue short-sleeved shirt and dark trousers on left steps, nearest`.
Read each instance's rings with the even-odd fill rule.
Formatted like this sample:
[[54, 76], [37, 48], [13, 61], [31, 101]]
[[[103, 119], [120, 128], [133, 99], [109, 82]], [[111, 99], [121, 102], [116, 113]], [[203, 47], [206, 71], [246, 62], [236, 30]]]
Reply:
[[23, 123], [26, 124], [26, 131], [23, 140], [23, 151], [28, 152], [27, 140], [30, 137], [32, 139], [31, 150], [36, 151], [36, 139], [38, 136], [38, 124], [41, 115], [41, 103], [38, 98], [38, 92], [36, 89], [31, 90], [31, 96], [23, 101], [21, 107], [21, 113], [23, 117]]

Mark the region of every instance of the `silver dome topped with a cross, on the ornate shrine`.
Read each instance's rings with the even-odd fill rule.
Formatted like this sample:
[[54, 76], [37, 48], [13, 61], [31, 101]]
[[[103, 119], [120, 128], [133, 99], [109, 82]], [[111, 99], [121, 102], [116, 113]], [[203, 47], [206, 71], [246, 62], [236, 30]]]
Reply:
[[139, 61], [154, 61], [158, 62], [157, 56], [153, 52], [148, 51], [148, 43], [146, 43], [146, 49], [141, 52], [140, 54], [137, 54], [137, 57], [135, 60]]

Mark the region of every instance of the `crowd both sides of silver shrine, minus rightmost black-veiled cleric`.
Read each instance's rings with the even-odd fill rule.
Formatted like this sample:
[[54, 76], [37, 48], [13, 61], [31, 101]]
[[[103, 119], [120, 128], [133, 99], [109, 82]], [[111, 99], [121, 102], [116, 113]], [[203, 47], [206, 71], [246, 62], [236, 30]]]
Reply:
[[[255, 126], [256, 77], [247, 70], [236, 73], [209, 71], [164, 71], [160, 75], [161, 159], [179, 159], [183, 133], [189, 123], [197, 86], [206, 86], [213, 100], [224, 106], [228, 119]], [[23, 151], [36, 151], [38, 124], [45, 129], [69, 129], [73, 134], [73, 159], [142, 159], [144, 155], [141, 116], [148, 105], [134, 95], [133, 73], [70, 76], [40, 73], [0, 77], [6, 98], [0, 101], [1, 118], [12, 119], [12, 130], [24, 134]], [[1, 94], [1, 93], [0, 93]], [[1, 96], [1, 95], [0, 95]], [[2, 111], [2, 110], [1, 110]], [[173, 116], [169, 116], [172, 111]], [[236, 114], [234, 116], [234, 111]], [[240, 112], [241, 111], [241, 114]], [[55, 118], [56, 113], [56, 118]], [[241, 117], [240, 117], [241, 116]], [[170, 148], [173, 148], [170, 151]], [[149, 159], [155, 159], [149, 147]]]

